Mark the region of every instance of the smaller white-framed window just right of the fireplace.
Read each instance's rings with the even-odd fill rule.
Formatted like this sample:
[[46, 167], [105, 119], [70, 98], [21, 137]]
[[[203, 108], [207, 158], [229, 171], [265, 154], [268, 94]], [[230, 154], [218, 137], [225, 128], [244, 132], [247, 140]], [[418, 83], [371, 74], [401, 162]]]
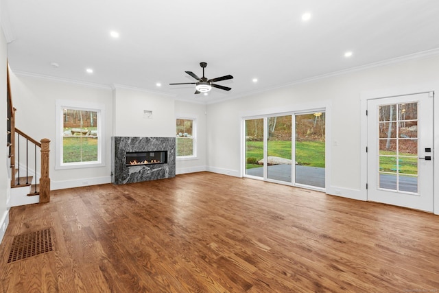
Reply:
[[177, 118], [176, 156], [179, 158], [193, 158], [196, 156], [195, 121], [193, 118]]

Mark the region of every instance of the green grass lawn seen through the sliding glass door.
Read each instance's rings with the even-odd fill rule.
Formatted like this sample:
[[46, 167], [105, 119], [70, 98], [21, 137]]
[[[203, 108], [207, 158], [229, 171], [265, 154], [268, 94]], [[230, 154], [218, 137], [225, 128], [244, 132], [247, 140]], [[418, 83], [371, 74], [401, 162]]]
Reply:
[[[285, 159], [292, 159], [291, 141], [268, 141], [268, 156], [280, 156]], [[263, 159], [263, 142], [246, 142], [246, 159], [255, 158], [250, 161]], [[249, 160], [247, 160], [248, 162]], [[299, 165], [311, 167], [324, 167], [324, 141], [299, 141], [296, 143], [296, 161]], [[247, 163], [246, 168], [261, 167], [257, 163]]]

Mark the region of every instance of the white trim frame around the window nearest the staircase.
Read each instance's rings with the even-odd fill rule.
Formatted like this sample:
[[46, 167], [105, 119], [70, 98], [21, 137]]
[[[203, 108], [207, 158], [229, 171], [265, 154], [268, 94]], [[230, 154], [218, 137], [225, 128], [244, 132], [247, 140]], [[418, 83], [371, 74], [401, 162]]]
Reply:
[[[77, 110], [92, 110], [98, 113], [97, 115], [97, 137], [99, 143], [97, 145], [97, 161], [93, 162], [76, 162], [76, 163], [62, 163], [62, 114], [63, 108], [77, 109]], [[69, 101], [63, 99], [56, 99], [56, 147], [55, 147], [55, 169], [78, 169], [87, 167], [103, 167], [105, 166], [105, 139], [104, 139], [104, 121], [105, 121], [105, 105], [94, 104], [88, 102]]]

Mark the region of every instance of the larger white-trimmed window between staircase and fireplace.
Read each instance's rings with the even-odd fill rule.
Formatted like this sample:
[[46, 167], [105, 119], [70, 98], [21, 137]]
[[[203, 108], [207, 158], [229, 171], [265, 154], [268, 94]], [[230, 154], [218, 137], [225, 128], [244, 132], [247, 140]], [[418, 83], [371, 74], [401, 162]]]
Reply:
[[56, 169], [104, 165], [104, 106], [57, 101]]

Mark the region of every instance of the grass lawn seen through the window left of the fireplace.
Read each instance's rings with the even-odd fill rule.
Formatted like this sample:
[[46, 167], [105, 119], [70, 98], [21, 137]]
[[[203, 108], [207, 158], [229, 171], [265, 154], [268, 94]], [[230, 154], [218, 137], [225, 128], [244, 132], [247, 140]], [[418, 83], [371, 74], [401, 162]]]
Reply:
[[97, 138], [64, 137], [62, 163], [97, 161]]

